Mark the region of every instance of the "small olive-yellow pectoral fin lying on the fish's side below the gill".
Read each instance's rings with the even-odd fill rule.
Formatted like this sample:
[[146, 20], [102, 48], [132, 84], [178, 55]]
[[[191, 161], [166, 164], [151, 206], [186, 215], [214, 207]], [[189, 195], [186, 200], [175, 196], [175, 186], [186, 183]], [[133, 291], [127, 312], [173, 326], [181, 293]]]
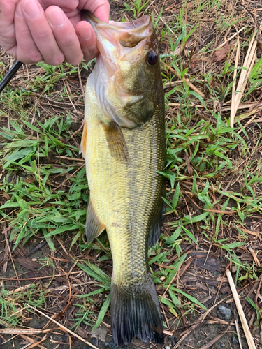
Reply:
[[121, 128], [114, 121], [111, 121], [108, 125], [103, 124], [103, 128], [112, 158], [117, 158], [121, 163], [128, 162], [129, 151]]

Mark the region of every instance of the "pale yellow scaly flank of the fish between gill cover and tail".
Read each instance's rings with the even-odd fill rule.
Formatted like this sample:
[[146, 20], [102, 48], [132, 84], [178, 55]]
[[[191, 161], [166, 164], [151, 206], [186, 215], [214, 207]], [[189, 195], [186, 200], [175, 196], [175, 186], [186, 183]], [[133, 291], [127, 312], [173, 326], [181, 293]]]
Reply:
[[[110, 156], [103, 127], [96, 115], [99, 106], [97, 102], [94, 103], [96, 98], [93, 94], [92, 89], [87, 90], [87, 154], [90, 154], [87, 159], [87, 177], [90, 198], [108, 233], [114, 260], [114, 282], [125, 283], [133, 272], [138, 275], [133, 281], [136, 283], [148, 271], [150, 218], [157, 214], [159, 196], [163, 192], [163, 178], [156, 173], [163, 170], [164, 124], [161, 122], [159, 125], [163, 118], [159, 105], [152, 119], [136, 129], [136, 132], [123, 128], [131, 160], [129, 163], [119, 163]], [[152, 146], [152, 138], [158, 147]], [[136, 260], [136, 265], [133, 260]]]

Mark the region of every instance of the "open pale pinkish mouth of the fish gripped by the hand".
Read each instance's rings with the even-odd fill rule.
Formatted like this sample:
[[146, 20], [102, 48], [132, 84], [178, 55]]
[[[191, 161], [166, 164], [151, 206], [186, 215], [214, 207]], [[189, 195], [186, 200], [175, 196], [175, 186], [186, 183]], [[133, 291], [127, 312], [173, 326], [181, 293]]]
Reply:
[[151, 36], [153, 31], [152, 20], [149, 15], [144, 15], [132, 22], [109, 21], [109, 23], [106, 23], [99, 20], [91, 12], [82, 10], [82, 20], [86, 20], [92, 25], [98, 39], [98, 45], [99, 39], [103, 38], [113, 43], [113, 45], [136, 47], [142, 40]]

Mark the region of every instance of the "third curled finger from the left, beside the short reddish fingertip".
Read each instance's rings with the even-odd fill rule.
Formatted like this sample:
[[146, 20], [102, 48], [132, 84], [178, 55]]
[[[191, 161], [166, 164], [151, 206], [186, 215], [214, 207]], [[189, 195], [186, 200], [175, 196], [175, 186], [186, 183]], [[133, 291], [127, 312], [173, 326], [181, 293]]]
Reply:
[[50, 6], [45, 10], [45, 15], [65, 60], [73, 65], [79, 64], [82, 61], [83, 53], [73, 24], [57, 6]]

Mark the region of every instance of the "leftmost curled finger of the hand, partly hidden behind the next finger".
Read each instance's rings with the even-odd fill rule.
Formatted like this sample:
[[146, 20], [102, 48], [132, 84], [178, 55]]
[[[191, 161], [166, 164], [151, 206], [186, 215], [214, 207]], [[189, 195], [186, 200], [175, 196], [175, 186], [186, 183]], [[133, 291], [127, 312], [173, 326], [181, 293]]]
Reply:
[[43, 59], [22, 16], [20, 3], [17, 4], [15, 9], [15, 37], [17, 42], [15, 57], [19, 61], [23, 63], [37, 63]]

